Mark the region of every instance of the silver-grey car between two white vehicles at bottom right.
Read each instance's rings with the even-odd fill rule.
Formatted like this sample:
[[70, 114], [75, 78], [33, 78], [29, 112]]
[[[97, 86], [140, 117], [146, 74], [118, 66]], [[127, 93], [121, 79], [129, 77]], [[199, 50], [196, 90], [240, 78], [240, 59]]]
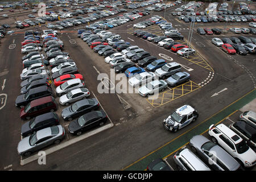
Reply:
[[202, 135], [191, 138], [190, 145], [193, 152], [196, 152], [217, 171], [236, 171], [240, 164], [223, 148], [211, 142]]

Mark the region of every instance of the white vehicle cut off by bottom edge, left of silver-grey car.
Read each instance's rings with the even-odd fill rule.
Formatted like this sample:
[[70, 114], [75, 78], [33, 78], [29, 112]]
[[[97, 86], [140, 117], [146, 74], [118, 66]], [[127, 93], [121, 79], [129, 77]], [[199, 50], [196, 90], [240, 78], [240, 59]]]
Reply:
[[174, 155], [174, 162], [179, 171], [210, 171], [210, 168], [188, 148], [181, 148], [177, 151]]

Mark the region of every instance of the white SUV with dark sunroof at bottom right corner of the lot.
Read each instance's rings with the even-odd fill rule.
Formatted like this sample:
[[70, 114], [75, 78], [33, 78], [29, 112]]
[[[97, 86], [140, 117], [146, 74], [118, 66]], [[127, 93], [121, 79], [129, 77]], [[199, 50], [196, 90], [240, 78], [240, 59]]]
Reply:
[[242, 166], [253, 167], [256, 164], [256, 153], [228, 126], [210, 125], [208, 133], [212, 142], [218, 143]]

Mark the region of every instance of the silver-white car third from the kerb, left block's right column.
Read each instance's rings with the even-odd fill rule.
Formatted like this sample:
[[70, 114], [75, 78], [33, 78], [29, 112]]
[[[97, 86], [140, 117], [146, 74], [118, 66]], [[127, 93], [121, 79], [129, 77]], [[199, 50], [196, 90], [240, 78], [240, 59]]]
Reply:
[[85, 99], [90, 96], [90, 92], [86, 88], [78, 88], [69, 91], [67, 94], [60, 97], [60, 104], [68, 106], [69, 104]]

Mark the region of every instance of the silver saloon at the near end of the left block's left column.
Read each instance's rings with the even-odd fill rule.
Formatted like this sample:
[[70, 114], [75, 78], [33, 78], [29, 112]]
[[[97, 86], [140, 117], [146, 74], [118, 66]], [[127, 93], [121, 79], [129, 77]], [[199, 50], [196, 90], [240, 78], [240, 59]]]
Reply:
[[20, 140], [17, 150], [19, 155], [30, 156], [49, 144], [58, 144], [65, 137], [65, 129], [61, 125], [47, 127]]

